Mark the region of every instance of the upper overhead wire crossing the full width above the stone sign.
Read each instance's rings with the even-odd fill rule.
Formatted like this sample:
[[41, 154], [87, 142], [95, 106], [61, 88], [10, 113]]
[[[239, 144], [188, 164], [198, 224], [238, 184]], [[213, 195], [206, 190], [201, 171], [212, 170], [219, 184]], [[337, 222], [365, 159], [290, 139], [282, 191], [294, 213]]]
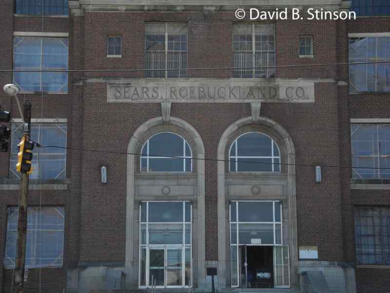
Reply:
[[248, 67], [195, 67], [195, 68], [169, 68], [169, 69], [0, 69], [0, 72], [143, 72], [143, 71], [175, 71], [175, 70], [240, 70], [240, 69], [264, 69], [264, 68], [289, 68], [289, 67], [320, 67], [320, 66], [338, 66], [338, 65], [359, 65], [359, 64], [379, 64], [390, 63], [387, 61], [369, 61], [369, 62], [349, 62], [349, 63], [314, 63], [314, 64], [289, 64], [274, 66], [248, 66]]

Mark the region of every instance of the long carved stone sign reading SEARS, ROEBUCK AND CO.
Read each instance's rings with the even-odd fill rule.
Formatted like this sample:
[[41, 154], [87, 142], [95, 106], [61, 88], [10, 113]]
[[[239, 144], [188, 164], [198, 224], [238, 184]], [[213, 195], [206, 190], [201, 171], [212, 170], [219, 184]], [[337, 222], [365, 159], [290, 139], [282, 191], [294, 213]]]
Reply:
[[261, 81], [153, 81], [134, 80], [107, 84], [107, 102], [172, 103], [286, 103], [314, 102], [314, 83], [288, 80]]

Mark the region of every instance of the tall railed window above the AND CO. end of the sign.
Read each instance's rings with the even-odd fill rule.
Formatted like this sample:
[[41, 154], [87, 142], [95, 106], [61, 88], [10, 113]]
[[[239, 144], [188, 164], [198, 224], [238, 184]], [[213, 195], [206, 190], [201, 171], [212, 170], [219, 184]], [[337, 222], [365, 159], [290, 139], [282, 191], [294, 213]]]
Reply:
[[234, 25], [234, 68], [245, 67], [234, 69], [234, 77], [275, 77], [275, 68], [272, 68], [275, 65], [274, 34], [273, 23]]

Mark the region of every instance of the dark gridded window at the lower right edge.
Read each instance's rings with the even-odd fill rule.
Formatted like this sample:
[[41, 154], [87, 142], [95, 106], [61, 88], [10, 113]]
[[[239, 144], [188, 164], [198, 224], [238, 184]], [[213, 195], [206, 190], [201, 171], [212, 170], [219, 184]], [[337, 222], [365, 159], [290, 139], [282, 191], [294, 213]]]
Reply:
[[390, 265], [390, 208], [355, 208], [356, 261]]

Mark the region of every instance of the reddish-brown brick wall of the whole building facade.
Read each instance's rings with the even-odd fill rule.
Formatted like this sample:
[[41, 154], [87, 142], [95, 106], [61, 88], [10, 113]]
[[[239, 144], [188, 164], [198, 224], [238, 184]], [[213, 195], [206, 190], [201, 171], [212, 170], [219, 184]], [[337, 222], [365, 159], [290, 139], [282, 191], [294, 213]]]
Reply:
[[[13, 67], [13, 32], [69, 32], [69, 69], [144, 69], [144, 24], [147, 21], [188, 23], [188, 68], [233, 66], [233, 11], [183, 12], [89, 11], [69, 17], [14, 16], [13, 0], [2, 0], [0, 69]], [[43, 21], [43, 22], [42, 22]], [[348, 33], [390, 32], [390, 17], [355, 21], [276, 21], [276, 64], [348, 62]], [[109, 59], [106, 40], [122, 37], [122, 58]], [[313, 37], [313, 59], [300, 59], [299, 36]], [[231, 70], [189, 70], [191, 78], [231, 77]], [[68, 126], [67, 190], [31, 190], [29, 205], [65, 207], [62, 269], [30, 269], [26, 292], [62, 292], [69, 288], [68, 270], [80, 263], [125, 264], [125, 154], [100, 154], [77, 149], [125, 153], [139, 126], [161, 116], [159, 103], [107, 103], [107, 83], [87, 79], [142, 78], [138, 72], [70, 72], [66, 95], [20, 94], [32, 102], [33, 118], [66, 118]], [[317, 79], [315, 103], [263, 103], [260, 115], [283, 126], [295, 147], [298, 246], [317, 246], [318, 261], [346, 262], [355, 268], [358, 293], [389, 292], [389, 266], [359, 268], [355, 263], [353, 207], [389, 206], [389, 189], [351, 189], [351, 169], [322, 168], [315, 183], [314, 166], [351, 165], [350, 119], [389, 119], [389, 94], [350, 95], [347, 66], [287, 67], [277, 78]], [[12, 73], [0, 72], [0, 84]], [[15, 100], [0, 92], [0, 105], [20, 118]], [[199, 133], [207, 159], [217, 159], [218, 142], [235, 121], [251, 116], [250, 103], [172, 103], [171, 116]], [[303, 166], [311, 165], [311, 166]], [[18, 203], [19, 190], [7, 190], [9, 154], [0, 154], [0, 256], [4, 255], [7, 207]], [[108, 184], [100, 182], [100, 167]], [[34, 184], [34, 182], [33, 182]], [[205, 260], [218, 261], [218, 174], [215, 161], [205, 162]], [[10, 292], [13, 270], [0, 266], [0, 293]], [[68, 276], [69, 282], [69, 276]], [[104, 289], [104, 288], [101, 288]], [[71, 292], [71, 291], [69, 291]]]

